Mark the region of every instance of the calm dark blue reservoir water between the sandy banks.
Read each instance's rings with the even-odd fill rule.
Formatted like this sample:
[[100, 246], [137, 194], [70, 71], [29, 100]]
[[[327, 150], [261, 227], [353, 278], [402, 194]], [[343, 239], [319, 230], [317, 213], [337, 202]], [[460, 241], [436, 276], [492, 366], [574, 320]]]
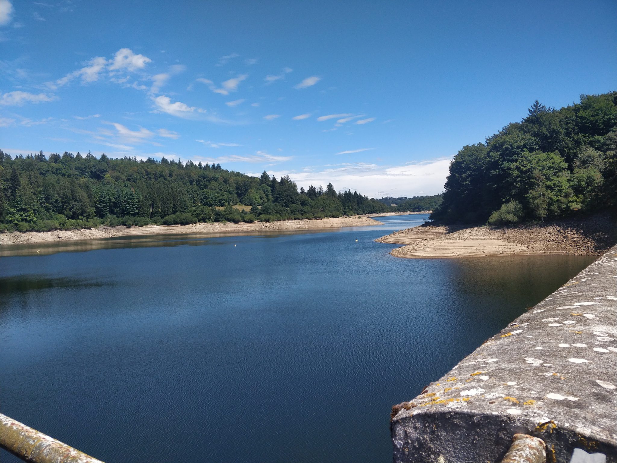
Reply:
[[424, 218], [0, 257], [0, 412], [108, 463], [389, 462], [392, 404], [594, 260], [373, 241]]

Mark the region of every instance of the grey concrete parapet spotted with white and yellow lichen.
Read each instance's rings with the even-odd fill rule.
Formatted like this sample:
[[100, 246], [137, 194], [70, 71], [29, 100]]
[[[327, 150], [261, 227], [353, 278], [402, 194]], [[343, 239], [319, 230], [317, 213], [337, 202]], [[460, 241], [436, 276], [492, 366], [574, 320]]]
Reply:
[[392, 409], [395, 462], [498, 462], [515, 433], [547, 461], [617, 463], [617, 246]]

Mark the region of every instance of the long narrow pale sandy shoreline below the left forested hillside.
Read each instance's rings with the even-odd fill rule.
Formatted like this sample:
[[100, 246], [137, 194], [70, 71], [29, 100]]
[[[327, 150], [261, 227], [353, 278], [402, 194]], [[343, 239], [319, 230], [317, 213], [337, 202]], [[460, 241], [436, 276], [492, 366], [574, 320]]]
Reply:
[[324, 228], [381, 225], [369, 217], [341, 217], [321, 220], [281, 220], [254, 223], [193, 223], [191, 225], [146, 225], [145, 227], [97, 227], [85, 230], [27, 231], [0, 233], [0, 246], [6, 244], [46, 243], [49, 241], [92, 240], [113, 236], [171, 235], [202, 233], [212, 235], [247, 235], [270, 230], [321, 230]]

